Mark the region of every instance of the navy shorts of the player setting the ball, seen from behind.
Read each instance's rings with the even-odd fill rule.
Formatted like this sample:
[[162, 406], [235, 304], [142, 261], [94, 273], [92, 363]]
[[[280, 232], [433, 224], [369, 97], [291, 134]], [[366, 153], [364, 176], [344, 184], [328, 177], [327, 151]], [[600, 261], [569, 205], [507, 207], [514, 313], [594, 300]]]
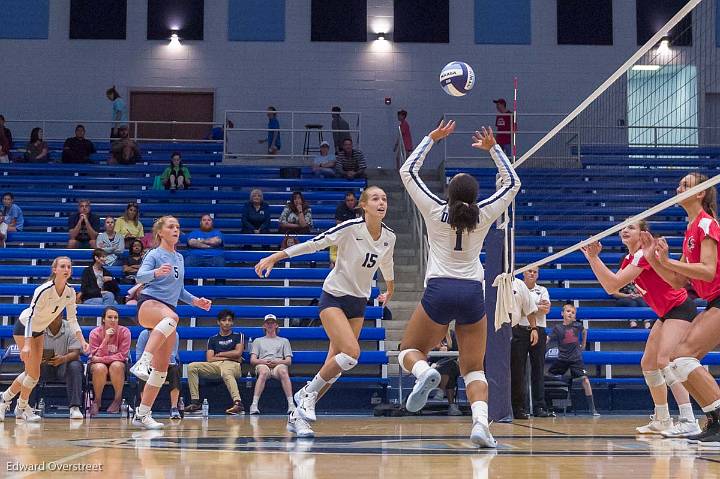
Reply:
[[475, 324], [485, 316], [482, 283], [469, 279], [432, 278], [420, 301], [438, 324]]

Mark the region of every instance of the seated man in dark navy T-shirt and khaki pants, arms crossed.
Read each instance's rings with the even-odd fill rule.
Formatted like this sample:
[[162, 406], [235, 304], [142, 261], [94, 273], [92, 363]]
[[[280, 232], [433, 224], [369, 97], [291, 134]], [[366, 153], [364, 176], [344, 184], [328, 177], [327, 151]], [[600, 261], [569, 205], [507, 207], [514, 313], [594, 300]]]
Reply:
[[235, 313], [225, 309], [218, 313], [220, 331], [208, 339], [206, 361], [188, 365], [188, 386], [190, 388], [190, 404], [185, 412], [193, 413], [201, 409], [200, 378], [218, 377], [223, 380], [232, 396], [233, 405], [225, 410], [226, 414], [245, 414], [245, 407], [240, 399], [237, 379], [242, 377], [242, 353], [245, 348], [245, 336], [232, 330]]

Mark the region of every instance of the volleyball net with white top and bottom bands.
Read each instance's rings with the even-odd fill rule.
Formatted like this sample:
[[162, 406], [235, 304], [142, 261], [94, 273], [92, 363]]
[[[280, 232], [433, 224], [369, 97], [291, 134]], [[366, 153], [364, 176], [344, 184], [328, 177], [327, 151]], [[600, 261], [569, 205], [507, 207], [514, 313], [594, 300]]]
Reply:
[[[523, 189], [509, 224], [509, 267], [494, 283], [496, 327], [509, 321], [513, 276], [548, 264], [587, 268], [579, 250], [602, 239], [617, 261], [623, 245], [611, 236], [641, 219], [656, 234], [682, 237], [678, 202], [720, 182], [717, 3], [690, 0], [668, 14], [592, 94], [518, 152]], [[710, 179], [676, 196], [689, 171]]]

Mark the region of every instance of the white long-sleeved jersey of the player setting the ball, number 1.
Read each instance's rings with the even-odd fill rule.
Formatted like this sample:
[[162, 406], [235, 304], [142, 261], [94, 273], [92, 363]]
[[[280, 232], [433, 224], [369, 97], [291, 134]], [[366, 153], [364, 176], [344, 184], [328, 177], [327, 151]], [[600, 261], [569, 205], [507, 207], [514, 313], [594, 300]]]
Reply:
[[485, 271], [480, 263], [480, 250], [493, 222], [508, 208], [520, 190], [520, 179], [513, 170], [502, 148], [494, 146], [490, 156], [500, 172], [500, 189], [489, 198], [480, 201], [480, 219], [472, 232], [463, 231], [458, 238], [448, 223], [448, 204], [430, 192], [418, 175], [425, 156], [433, 146], [433, 140], [423, 138], [405, 164], [400, 177], [410, 197], [425, 219], [430, 243], [425, 285], [431, 278], [455, 278], [483, 281]]

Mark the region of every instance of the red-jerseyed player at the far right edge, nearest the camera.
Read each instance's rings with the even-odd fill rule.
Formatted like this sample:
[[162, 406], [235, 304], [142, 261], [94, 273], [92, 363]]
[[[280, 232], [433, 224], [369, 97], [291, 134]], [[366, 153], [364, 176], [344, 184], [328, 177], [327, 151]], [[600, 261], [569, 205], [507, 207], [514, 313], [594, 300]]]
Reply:
[[[682, 193], [707, 180], [705, 175], [691, 173], [678, 186]], [[717, 215], [717, 190], [710, 187], [680, 203], [687, 212], [688, 227], [680, 260], [670, 259], [664, 239], [641, 235], [643, 250], [655, 271], [673, 287], [689, 281], [698, 295], [708, 302], [705, 311], [693, 321], [690, 330], [670, 355], [665, 375], [668, 384], [683, 383], [702, 407], [708, 420], [705, 429], [694, 436], [701, 447], [720, 447], [720, 388], [712, 375], [700, 365], [700, 359], [712, 351], [720, 338], [720, 225]]]

